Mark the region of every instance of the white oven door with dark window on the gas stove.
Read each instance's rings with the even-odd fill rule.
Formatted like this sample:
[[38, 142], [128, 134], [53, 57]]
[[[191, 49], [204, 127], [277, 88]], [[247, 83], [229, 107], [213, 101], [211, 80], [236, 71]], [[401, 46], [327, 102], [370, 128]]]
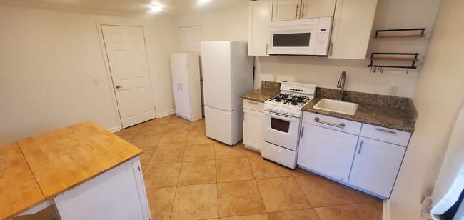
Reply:
[[300, 119], [264, 111], [263, 141], [296, 151]]

